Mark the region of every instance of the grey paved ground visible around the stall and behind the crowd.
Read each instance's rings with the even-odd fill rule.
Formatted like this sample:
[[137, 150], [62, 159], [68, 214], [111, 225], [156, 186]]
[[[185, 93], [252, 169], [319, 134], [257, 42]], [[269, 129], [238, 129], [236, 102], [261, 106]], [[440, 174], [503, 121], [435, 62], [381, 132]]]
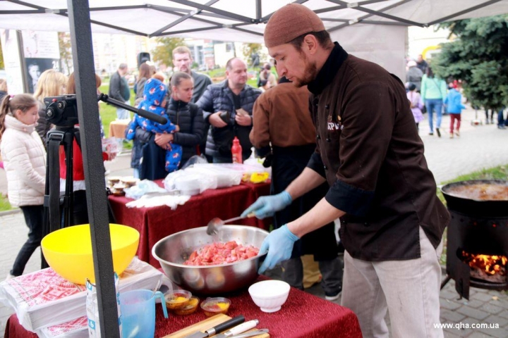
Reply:
[[[485, 122], [483, 112], [478, 117]], [[449, 138], [449, 117], [442, 121], [442, 137], [428, 134], [427, 120], [420, 125], [420, 135], [425, 144], [425, 157], [437, 184], [451, 180], [459, 175], [471, 173], [482, 168], [496, 165], [508, 165], [508, 130], [499, 130], [496, 125], [471, 125], [476, 118], [475, 111], [466, 109], [462, 114], [461, 137]], [[368, 121], [365, 121], [368, 123]], [[124, 154], [115, 161], [107, 163], [110, 175], [131, 175], [130, 156]], [[0, 170], [0, 192], [6, 193], [6, 177]], [[18, 250], [25, 242], [28, 229], [23, 214], [0, 213], [0, 280], [11, 269]], [[35, 251], [28, 262], [25, 273], [40, 268], [40, 249]], [[443, 276], [444, 277], [444, 276]], [[324, 297], [319, 285], [308, 289], [317, 296]], [[508, 294], [485, 289], [472, 288], [470, 299], [459, 299], [450, 281], [440, 292], [441, 322], [452, 327], [444, 329], [444, 337], [508, 337]], [[340, 299], [336, 301], [340, 303]], [[4, 332], [5, 323], [13, 313], [11, 308], [0, 304], [0, 332]], [[387, 318], [389, 320], [389, 318]], [[497, 325], [497, 328], [466, 328], [467, 325]]]

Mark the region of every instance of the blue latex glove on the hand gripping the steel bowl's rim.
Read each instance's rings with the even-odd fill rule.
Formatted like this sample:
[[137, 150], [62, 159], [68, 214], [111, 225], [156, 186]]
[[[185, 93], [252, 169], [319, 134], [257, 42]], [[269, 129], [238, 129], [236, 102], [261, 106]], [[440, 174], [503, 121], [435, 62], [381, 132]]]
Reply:
[[272, 269], [278, 263], [291, 258], [294, 242], [298, 241], [298, 239], [298, 236], [291, 232], [286, 224], [270, 232], [261, 244], [260, 254], [267, 251], [268, 254], [265, 261], [261, 264], [258, 273], [264, 273], [265, 270]]

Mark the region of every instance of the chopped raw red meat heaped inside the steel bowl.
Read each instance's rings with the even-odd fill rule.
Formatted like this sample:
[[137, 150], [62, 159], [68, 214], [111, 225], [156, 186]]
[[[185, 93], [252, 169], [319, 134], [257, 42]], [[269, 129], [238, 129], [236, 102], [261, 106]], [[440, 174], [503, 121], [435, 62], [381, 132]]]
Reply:
[[252, 245], [244, 246], [235, 241], [212, 243], [193, 251], [185, 265], [218, 265], [243, 261], [258, 256], [259, 249]]

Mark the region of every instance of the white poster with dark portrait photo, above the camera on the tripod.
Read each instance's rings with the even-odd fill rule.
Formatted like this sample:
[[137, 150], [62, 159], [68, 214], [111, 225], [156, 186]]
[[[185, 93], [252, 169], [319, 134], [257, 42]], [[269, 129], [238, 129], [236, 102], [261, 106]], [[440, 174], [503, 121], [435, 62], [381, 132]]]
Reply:
[[28, 92], [37, 90], [37, 82], [44, 70], [60, 70], [58, 32], [23, 30], [23, 55]]

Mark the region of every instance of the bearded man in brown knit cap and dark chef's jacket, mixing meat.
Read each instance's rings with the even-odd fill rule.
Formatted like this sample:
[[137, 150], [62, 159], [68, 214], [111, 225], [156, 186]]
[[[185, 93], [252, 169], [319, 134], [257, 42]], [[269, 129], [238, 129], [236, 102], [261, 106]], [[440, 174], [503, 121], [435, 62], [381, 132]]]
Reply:
[[[295, 24], [298, 23], [298, 24]], [[272, 215], [328, 182], [324, 199], [274, 230], [260, 273], [291, 256], [294, 242], [340, 218], [344, 253], [341, 304], [364, 337], [442, 337], [439, 291], [442, 232], [449, 213], [435, 194], [404, 84], [375, 63], [332, 42], [309, 8], [289, 4], [272, 15], [265, 44], [279, 76], [308, 85], [315, 153], [280, 194], [258, 199], [258, 218]]]

